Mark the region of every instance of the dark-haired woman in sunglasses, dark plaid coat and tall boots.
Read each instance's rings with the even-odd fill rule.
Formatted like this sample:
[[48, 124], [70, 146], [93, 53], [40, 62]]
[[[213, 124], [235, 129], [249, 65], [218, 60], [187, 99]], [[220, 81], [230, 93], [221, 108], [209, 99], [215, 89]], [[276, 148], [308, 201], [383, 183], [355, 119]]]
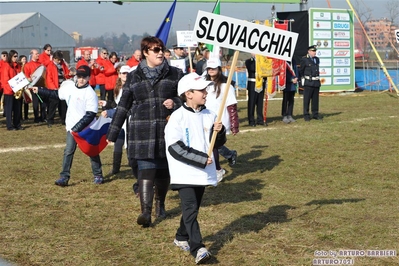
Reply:
[[155, 213], [164, 218], [170, 176], [166, 160], [164, 129], [170, 114], [181, 106], [177, 84], [183, 72], [164, 59], [165, 45], [157, 37], [141, 41], [144, 59], [128, 74], [121, 100], [109, 127], [107, 139], [115, 142], [128, 122], [128, 153], [137, 160], [141, 214], [137, 223], [151, 224], [155, 185]]

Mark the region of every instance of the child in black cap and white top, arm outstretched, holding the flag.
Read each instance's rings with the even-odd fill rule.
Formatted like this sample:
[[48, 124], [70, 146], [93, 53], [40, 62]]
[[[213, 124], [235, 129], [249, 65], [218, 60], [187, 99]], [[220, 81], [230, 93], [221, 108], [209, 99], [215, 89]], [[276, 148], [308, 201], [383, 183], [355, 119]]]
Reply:
[[[98, 110], [98, 98], [93, 88], [89, 85], [90, 68], [82, 65], [76, 70], [77, 80], [64, 81], [59, 90], [48, 90], [46, 88], [33, 87], [33, 92], [43, 97], [60, 98], [65, 100], [68, 105], [65, 128], [66, 146], [64, 150], [64, 159], [62, 162], [62, 171], [60, 178], [55, 181], [57, 186], [68, 186], [73, 156], [76, 150], [76, 141], [72, 132], [80, 132], [95, 121]], [[100, 156], [90, 157], [91, 169], [94, 175], [94, 183], [103, 183], [102, 165]]]

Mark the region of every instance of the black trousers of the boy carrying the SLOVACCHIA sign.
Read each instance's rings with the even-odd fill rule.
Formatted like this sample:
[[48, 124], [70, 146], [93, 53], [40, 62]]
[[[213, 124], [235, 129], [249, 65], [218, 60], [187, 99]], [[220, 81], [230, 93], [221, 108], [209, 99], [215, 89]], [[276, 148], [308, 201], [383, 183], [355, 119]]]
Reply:
[[194, 257], [197, 256], [197, 251], [200, 248], [205, 247], [197, 220], [204, 192], [205, 187], [202, 186], [179, 189], [182, 217], [180, 218], [180, 227], [176, 232], [176, 239], [189, 241], [190, 253]]

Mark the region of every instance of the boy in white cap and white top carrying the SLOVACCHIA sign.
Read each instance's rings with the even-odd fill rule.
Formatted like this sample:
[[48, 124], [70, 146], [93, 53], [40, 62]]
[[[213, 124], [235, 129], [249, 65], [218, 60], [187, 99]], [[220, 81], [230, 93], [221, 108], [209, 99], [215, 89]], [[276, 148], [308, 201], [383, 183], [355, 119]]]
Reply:
[[213, 131], [218, 132], [216, 148], [226, 142], [224, 126], [216, 122], [215, 113], [205, 108], [206, 88], [210, 84], [212, 81], [196, 73], [185, 75], [178, 84], [184, 104], [172, 113], [165, 127], [170, 184], [179, 192], [182, 206], [174, 244], [190, 251], [197, 264], [211, 257], [202, 243], [197, 216], [205, 187], [217, 185], [213, 155], [207, 154]]

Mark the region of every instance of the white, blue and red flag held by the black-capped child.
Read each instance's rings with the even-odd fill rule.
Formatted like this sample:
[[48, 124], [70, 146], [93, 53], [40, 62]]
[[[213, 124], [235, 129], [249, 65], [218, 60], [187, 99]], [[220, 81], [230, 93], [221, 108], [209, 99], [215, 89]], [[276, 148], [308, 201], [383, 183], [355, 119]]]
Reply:
[[111, 118], [100, 116], [91, 126], [80, 132], [71, 132], [78, 147], [89, 157], [100, 154], [107, 146], [107, 131], [111, 124]]

